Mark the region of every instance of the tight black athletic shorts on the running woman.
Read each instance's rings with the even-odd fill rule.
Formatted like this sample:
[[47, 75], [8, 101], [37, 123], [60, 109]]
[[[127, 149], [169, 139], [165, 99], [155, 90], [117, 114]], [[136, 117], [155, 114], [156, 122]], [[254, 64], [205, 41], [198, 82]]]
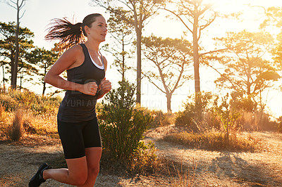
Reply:
[[86, 122], [61, 122], [58, 132], [66, 159], [85, 156], [85, 148], [102, 147], [97, 117]]

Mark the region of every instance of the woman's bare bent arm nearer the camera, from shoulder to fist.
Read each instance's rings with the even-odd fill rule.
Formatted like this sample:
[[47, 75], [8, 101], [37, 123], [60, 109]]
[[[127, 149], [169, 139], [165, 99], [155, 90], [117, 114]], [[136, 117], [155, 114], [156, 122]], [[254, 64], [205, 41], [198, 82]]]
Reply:
[[60, 89], [80, 91], [92, 96], [96, 95], [97, 84], [95, 82], [78, 84], [69, 82], [59, 76], [64, 70], [67, 70], [75, 63], [81, 62], [81, 60], [84, 60], [82, 47], [80, 45], [71, 47], [71, 49], [64, 52], [59, 60], [54, 63], [51, 69], [47, 72], [44, 81]]

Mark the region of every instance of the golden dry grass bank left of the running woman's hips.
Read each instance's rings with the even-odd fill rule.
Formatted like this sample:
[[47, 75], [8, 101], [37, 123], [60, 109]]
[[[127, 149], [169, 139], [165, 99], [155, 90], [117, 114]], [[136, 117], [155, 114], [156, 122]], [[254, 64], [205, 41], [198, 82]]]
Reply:
[[0, 98], [1, 140], [17, 141], [24, 133], [59, 138], [56, 113], [60, 98], [38, 96], [30, 91], [8, 91], [0, 93]]

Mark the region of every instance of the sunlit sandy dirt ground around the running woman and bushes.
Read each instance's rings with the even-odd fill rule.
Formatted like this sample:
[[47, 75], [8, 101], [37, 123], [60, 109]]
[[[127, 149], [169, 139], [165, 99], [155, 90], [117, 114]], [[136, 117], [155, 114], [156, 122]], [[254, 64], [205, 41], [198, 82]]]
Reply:
[[[190, 177], [193, 186], [282, 186], [282, 134], [252, 132], [265, 145], [261, 153], [231, 153], [185, 148], [162, 141], [171, 127], [150, 129], [145, 141], [153, 141], [157, 155], [185, 167], [195, 167]], [[59, 140], [43, 136], [26, 136], [20, 143], [0, 141], [0, 186], [27, 186], [39, 165], [58, 160], [62, 155]], [[95, 186], [171, 186], [171, 177], [121, 176], [99, 174]], [[47, 180], [42, 186], [69, 186]]]

